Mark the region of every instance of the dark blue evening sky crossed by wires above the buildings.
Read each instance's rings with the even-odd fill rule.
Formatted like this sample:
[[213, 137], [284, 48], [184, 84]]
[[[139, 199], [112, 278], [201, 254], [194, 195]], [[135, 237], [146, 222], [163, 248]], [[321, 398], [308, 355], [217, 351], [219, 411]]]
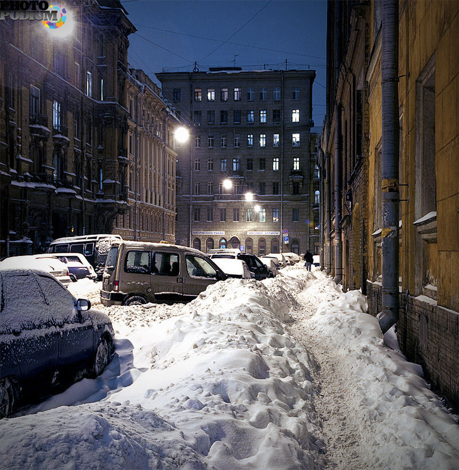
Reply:
[[[288, 63], [309, 65], [316, 70], [313, 119], [316, 125], [322, 125], [325, 114], [326, 0], [122, 2], [138, 30], [129, 37], [129, 63], [146, 71], [152, 79], [163, 67], [182, 67], [195, 61], [198, 66], [233, 65], [234, 55], [237, 55], [236, 65], [285, 63], [287, 59]], [[227, 39], [228, 43], [212, 52]]]

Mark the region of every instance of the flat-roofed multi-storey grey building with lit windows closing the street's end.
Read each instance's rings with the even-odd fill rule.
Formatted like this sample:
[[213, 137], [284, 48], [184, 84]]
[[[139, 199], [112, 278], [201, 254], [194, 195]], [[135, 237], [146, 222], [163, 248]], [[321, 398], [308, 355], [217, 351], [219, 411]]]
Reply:
[[257, 255], [314, 250], [315, 71], [233, 67], [156, 76], [190, 129], [178, 149], [177, 243]]

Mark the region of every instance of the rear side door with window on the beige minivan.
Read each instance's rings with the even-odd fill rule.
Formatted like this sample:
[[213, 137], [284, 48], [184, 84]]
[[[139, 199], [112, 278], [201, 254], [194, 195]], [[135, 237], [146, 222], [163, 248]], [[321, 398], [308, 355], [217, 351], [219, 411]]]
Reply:
[[153, 251], [151, 258], [151, 284], [155, 302], [181, 302], [183, 300], [183, 255], [175, 251]]

